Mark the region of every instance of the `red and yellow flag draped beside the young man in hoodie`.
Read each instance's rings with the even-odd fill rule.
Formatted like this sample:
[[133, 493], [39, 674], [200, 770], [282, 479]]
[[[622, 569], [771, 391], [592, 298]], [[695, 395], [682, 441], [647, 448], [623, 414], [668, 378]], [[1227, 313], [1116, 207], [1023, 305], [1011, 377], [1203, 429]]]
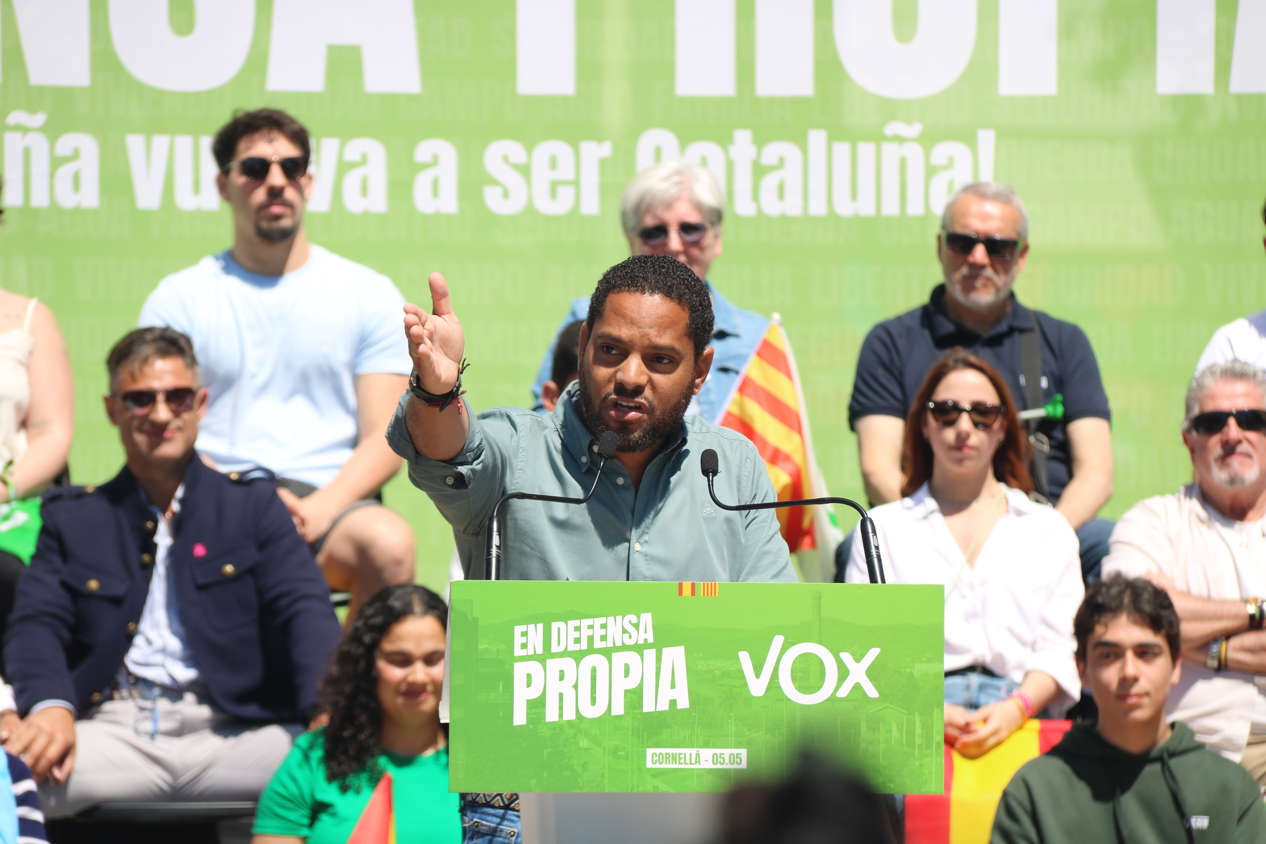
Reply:
[[1072, 721], [1032, 720], [1005, 742], [968, 759], [946, 745], [943, 795], [905, 796], [906, 844], [989, 844], [1003, 790], [1029, 759], [1063, 738]]

